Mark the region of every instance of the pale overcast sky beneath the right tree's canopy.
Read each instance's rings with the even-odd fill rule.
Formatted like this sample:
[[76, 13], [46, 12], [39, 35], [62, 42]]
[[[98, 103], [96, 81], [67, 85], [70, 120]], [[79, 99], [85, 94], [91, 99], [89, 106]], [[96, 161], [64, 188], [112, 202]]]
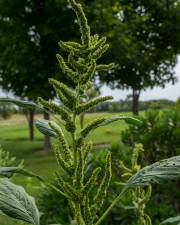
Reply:
[[[180, 97], [180, 57], [178, 60], [178, 64], [175, 68], [176, 76], [178, 78], [178, 82], [175, 85], [167, 84], [166, 87], [163, 88], [154, 88], [148, 89], [147, 91], [143, 91], [141, 93], [141, 100], [151, 100], [151, 99], [170, 99], [176, 100]], [[114, 100], [125, 99], [128, 94], [131, 94], [131, 91], [126, 90], [111, 90], [107, 86], [104, 86], [101, 90], [102, 95], [112, 95]]]

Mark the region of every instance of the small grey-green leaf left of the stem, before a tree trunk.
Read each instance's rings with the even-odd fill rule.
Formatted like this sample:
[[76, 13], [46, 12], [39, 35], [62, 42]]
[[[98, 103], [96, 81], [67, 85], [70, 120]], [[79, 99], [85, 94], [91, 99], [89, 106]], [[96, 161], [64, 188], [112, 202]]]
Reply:
[[49, 120], [37, 120], [35, 122], [35, 125], [37, 129], [43, 133], [44, 135], [50, 136], [50, 137], [57, 137], [56, 133], [51, 129], [51, 127], [48, 124]]

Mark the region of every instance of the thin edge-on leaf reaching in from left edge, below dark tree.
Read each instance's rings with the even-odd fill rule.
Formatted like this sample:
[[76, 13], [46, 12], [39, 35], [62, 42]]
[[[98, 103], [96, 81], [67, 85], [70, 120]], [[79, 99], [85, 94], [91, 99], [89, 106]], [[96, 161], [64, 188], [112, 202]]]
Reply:
[[24, 101], [24, 100], [16, 100], [16, 99], [11, 99], [11, 98], [0, 98], [0, 102], [13, 103], [19, 107], [28, 108], [28, 109], [39, 108], [39, 106], [37, 104], [35, 104], [34, 102], [28, 102], [28, 101]]

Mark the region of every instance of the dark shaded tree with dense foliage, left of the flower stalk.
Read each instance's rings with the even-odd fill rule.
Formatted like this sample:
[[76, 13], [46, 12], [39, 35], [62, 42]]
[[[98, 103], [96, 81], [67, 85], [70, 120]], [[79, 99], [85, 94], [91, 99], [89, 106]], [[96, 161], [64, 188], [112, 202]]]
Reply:
[[[55, 53], [59, 37], [76, 37], [74, 14], [66, 1], [0, 1], [0, 85], [16, 96], [36, 100], [53, 98], [48, 78], [62, 78]], [[66, 82], [63, 76], [63, 81]], [[47, 113], [44, 114], [49, 118]], [[33, 139], [34, 110], [29, 111], [30, 138]], [[49, 149], [45, 138], [45, 149]]]

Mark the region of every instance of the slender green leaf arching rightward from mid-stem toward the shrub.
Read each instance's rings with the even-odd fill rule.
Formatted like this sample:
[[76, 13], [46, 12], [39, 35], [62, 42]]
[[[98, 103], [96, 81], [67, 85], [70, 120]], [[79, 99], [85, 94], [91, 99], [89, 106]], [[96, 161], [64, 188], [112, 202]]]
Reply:
[[108, 124], [113, 123], [113, 122], [118, 121], [118, 120], [124, 120], [128, 124], [139, 124], [139, 123], [141, 123], [140, 120], [138, 120], [136, 118], [133, 118], [131, 116], [117, 116], [117, 117], [111, 117], [109, 119], [106, 119], [99, 126], [105, 126], [105, 125], [108, 125]]

